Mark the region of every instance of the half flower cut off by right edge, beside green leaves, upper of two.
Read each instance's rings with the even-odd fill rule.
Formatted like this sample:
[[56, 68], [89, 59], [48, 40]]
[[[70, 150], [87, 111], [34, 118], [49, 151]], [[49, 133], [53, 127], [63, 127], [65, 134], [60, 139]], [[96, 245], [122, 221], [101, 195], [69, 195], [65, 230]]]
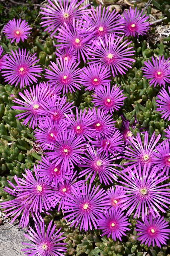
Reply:
[[160, 90], [160, 95], [157, 95], [159, 100], [156, 100], [156, 110], [161, 112], [162, 118], [170, 121], [170, 86], [168, 87], [168, 91], [169, 93], [165, 90], [165, 88]]

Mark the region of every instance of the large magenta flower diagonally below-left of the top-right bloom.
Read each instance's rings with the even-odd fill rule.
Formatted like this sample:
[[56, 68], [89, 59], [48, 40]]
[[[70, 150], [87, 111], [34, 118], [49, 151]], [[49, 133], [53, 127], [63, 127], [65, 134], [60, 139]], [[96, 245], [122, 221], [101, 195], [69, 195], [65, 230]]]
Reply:
[[115, 37], [115, 34], [110, 34], [109, 37], [105, 35], [100, 39], [100, 42], [94, 41], [94, 48], [89, 48], [90, 63], [101, 63], [104, 67], [112, 70], [113, 77], [126, 74], [127, 68], [132, 68], [134, 59], [129, 56], [134, 55], [133, 47], [129, 47], [128, 40], [123, 41], [122, 37]]

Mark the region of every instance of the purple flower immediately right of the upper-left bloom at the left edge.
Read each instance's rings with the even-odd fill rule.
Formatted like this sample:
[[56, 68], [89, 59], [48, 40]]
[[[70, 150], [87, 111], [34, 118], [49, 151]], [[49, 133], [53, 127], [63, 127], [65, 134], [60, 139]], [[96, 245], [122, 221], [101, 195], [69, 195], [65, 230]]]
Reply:
[[75, 89], [80, 90], [81, 86], [81, 69], [78, 67], [80, 62], [76, 63], [75, 59], [69, 61], [57, 59], [57, 65], [55, 62], [51, 61], [51, 65], [49, 65], [49, 69], [46, 70], [45, 78], [49, 79], [49, 84], [55, 85], [61, 89], [63, 89], [63, 94], [66, 92], [75, 92]]

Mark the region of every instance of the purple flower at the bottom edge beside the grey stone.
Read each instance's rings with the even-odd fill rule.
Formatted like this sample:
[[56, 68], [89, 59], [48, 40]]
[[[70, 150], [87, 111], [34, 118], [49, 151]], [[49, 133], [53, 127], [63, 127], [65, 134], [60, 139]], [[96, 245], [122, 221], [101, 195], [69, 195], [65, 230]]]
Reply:
[[61, 228], [58, 229], [57, 232], [55, 232], [55, 230], [57, 229], [57, 225], [54, 224], [52, 227], [52, 222], [52, 220], [49, 222], [46, 232], [44, 222], [40, 223], [40, 228], [37, 224], [35, 224], [36, 231], [29, 226], [29, 230], [27, 230], [28, 235], [24, 235], [33, 243], [23, 243], [27, 246], [27, 248], [22, 249], [25, 254], [30, 256], [62, 256], [63, 253], [67, 251], [67, 243], [62, 242], [62, 240], [66, 238], [62, 237], [64, 232], [60, 233]]

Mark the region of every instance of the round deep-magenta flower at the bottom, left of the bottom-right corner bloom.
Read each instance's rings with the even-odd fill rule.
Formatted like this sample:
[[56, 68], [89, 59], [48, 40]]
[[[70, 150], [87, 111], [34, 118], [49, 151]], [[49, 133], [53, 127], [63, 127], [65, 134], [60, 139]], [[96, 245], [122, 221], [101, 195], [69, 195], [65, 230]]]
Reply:
[[98, 228], [102, 230], [102, 235], [112, 237], [114, 241], [119, 239], [122, 241], [122, 236], [126, 235], [126, 231], [130, 230], [127, 226], [130, 225], [127, 216], [120, 209], [109, 209], [103, 212], [98, 219]]

